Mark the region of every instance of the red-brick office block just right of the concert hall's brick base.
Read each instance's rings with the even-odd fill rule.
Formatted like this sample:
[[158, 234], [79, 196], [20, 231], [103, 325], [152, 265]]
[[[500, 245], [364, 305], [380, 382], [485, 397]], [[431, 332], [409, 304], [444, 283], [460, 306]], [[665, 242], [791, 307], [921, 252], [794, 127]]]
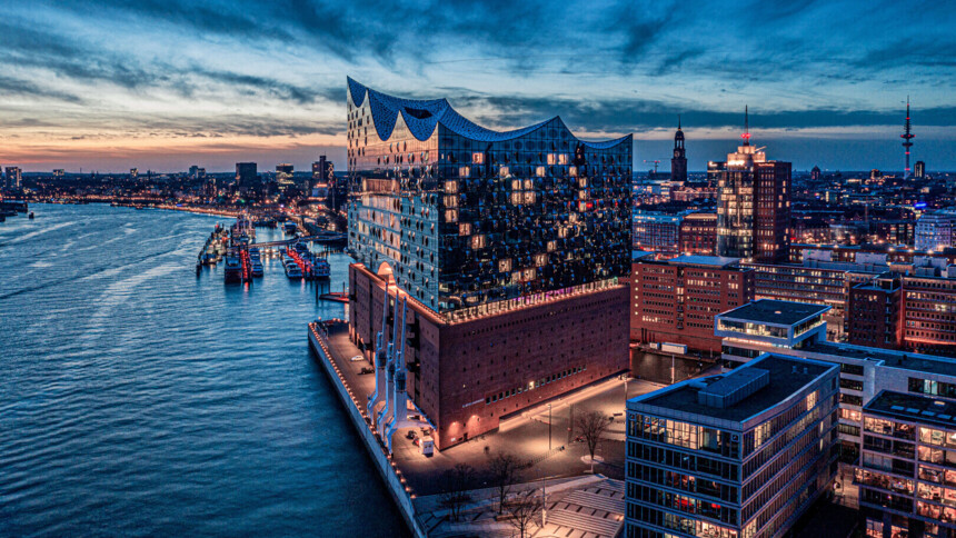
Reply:
[[721, 339], [714, 318], [754, 299], [754, 270], [737, 258], [679, 256], [666, 261], [651, 256], [631, 266], [630, 340], [679, 343], [708, 355], [719, 353]]

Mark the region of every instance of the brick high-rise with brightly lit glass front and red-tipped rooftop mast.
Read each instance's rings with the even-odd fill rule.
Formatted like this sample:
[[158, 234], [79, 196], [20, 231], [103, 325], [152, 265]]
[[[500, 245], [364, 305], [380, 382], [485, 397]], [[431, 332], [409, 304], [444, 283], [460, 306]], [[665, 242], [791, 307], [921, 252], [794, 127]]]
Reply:
[[743, 146], [727, 156], [720, 175], [717, 255], [785, 261], [790, 247], [790, 163], [768, 161], [750, 146], [749, 128], [745, 131]]

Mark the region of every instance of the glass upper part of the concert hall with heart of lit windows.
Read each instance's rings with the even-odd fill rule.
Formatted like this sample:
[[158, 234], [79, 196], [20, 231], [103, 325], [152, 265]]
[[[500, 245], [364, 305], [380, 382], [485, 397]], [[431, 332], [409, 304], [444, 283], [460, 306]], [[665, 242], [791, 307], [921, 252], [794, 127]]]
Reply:
[[349, 248], [437, 312], [616, 282], [630, 269], [633, 142], [560, 118], [508, 132], [349, 80]]

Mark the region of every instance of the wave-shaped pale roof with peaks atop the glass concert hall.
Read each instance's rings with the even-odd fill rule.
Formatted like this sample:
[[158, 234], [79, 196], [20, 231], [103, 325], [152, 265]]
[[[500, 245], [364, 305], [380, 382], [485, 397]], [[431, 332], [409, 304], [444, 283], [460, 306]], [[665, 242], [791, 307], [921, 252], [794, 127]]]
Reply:
[[[532, 126], [522, 127], [511, 131], [494, 131], [486, 129], [468, 118], [458, 113], [451, 104], [445, 99], [402, 99], [400, 97], [389, 96], [380, 91], [372, 90], [359, 82], [356, 82], [351, 77], [348, 77], [348, 90], [352, 102], [357, 107], [361, 107], [368, 99], [369, 109], [371, 110], [372, 123], [378, 137], [382, 140], [388, 140], [395, 126], [398, 122], [398, 117], [401, 116], [402, 122], [408, 127], [418, 140], [427, 140], [435, 132], [438, 123], [441, 123], [452, 132], [477, 140], [481, 142], [501, 142], [522, 137], [529, 132], [534, 132], [550, 121], [557, 120], [565, 129], [564, 121], [558, 116], [548, 120], [535, 123]], [[630, 139], [630, 134], [614, 140], [601, 142], [586, 142], [585, 146], [592, 149], [610, 149], [621, 142]]]

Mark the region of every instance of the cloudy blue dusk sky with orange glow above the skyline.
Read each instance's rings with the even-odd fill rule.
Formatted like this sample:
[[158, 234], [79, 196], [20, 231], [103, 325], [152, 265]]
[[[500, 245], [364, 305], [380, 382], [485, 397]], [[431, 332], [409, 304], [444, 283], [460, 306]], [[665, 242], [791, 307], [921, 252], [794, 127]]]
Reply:
[[0, 2], [0, 165], [345, 163], [345, 86], [446, 97], [492, 128], [560, 114], [690, 168], [753, 140], [797, 169], [956, 170], [956, 6], [925, 1]]

